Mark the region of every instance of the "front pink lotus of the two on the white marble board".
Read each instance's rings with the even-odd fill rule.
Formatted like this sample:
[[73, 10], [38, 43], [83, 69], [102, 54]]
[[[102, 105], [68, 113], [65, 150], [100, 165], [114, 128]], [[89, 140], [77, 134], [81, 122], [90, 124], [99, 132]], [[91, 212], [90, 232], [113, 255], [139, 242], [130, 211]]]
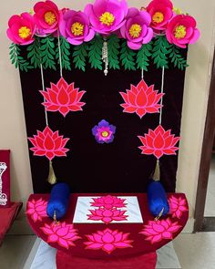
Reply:
[[116, 209], [104, 209], [99, 208], [96, 210], [90, 210], [91, 214], [87, 215], [88, 220], [102, 221], [106, 224], [113, 221], [127, 221], [128, 215], [125, 215], [126, 211]]

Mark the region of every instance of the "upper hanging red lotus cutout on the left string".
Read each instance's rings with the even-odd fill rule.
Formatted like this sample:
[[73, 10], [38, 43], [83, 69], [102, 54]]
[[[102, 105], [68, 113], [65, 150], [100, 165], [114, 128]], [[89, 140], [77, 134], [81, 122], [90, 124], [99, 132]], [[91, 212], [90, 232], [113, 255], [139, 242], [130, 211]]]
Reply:
[[46, 88], [46, 91], [40, 90], [40, 92], [46, 98], [46, 102], [43, 103], [46, 110], [59, 111], [64, 117], [69, 111], [82, 110], [85, 105], [80, 100], [86, 91], [81, 90], [78, 92], [78, 88], [75, 88], [74, 83], [67, 84], [64, 78], [60, 78], [56, 84], [51, 83], [51, 88]]

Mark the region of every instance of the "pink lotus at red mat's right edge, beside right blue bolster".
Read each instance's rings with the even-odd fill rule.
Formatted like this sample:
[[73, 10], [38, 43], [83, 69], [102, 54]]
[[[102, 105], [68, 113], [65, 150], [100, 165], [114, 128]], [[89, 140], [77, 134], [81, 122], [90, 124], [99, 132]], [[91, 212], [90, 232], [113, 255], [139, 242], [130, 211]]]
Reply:
[[169, 212], [173, 218], [180, 218], [183, 212], [187, 212], [187, 202], [181, 197], [177, 198], [173, 195], [169, 198]]

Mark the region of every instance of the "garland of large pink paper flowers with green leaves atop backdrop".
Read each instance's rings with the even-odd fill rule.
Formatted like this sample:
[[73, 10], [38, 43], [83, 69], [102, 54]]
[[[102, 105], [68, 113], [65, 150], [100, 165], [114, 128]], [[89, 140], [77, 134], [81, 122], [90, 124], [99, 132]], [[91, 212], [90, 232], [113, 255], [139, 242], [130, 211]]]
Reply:
[[[102, 49], [107, 42], [108, 67], [148, 70], [152, 58], [156, 67], [169, 64], [184, 69], [182, 51], [200, 37], [196, 21], [182, 14], [169, 0], [152, 0], [140, 9], [128, 8], [126, 0], [96, 0], [84, 11], [59, 9], [46, 0], [34, 11], [12, 16], [7, 36], [12, 40], [10, 58], [22, 71], [43, 67], [56, 70], [60, 41], [62, 67], [71, 63], [83, 71], [87, 63], [102, 69]], [[25, 47], [21, 49], [21, 47]]]

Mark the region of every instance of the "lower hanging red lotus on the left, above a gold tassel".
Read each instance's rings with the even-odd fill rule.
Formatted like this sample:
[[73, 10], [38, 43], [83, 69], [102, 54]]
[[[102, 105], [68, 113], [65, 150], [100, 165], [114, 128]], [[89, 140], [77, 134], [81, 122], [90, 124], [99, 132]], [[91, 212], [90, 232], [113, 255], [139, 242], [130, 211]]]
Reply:
[[42, 132], [37, 130], [37, 135], [33, 138], [29, 138], [33, 144], [33, 148], [36, 156], [46, 156], [48, 160], [52, 160], [55, 156], [62, 157], [67, 156], [68, 149], [65, 148], [69, 139], [64, 139], [63, 136], [59, 136], [58, 130], [52, 131], [48, 126]]

